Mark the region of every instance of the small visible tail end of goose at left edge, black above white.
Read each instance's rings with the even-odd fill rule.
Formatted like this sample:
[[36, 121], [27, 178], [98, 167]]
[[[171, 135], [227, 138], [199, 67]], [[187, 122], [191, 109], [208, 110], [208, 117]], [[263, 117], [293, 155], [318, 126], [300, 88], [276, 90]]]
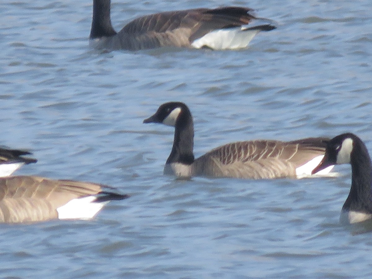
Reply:
[[16, 150], [0, 147], [0, 177], [10, 176], [25, 164], [36, 163], [34, 158], [22, 157], [32, 153], [25, 150]]

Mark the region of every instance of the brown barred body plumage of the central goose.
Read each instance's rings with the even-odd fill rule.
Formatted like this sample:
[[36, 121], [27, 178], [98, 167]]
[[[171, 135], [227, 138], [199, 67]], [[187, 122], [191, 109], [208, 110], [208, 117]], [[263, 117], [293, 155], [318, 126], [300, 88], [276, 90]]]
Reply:
[[283, 142], [254, 140], [217, 147], [195, 159], [195, 176], [271, 179], [296, 177], [296, 168], [324, 155], [323, 138]]

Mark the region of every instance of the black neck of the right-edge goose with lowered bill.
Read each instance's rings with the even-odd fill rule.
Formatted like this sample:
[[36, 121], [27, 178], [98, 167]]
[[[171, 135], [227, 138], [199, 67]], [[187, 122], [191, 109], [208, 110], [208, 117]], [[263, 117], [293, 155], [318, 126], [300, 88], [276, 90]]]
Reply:
[[372, 163], [368, 150], [360, 140], [354, 140], [350, 155], [352, 183], [343, 209], [372, 214]]

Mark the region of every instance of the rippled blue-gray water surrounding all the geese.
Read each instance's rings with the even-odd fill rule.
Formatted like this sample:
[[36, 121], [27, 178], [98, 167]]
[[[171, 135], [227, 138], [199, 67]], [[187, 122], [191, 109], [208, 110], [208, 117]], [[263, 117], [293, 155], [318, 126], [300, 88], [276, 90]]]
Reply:
[[371, 277], [372, 233], [338, 223], [349, 166], [327, 179], [163, 176], [173, 129], [142, 120], [169, 100], [192, 110], [196, 156], [345, 131], [372, 151], [369, 1], [115, 0], [112, 22], [221, 5], [253, 7], [278, 29], [241, 51], [102, 53], [88, 46], [90, 0], [0, 3], [0, 144], [39, 160], [17, 174], [131, 195], [92, 221], [1, 225], [1, 277]]

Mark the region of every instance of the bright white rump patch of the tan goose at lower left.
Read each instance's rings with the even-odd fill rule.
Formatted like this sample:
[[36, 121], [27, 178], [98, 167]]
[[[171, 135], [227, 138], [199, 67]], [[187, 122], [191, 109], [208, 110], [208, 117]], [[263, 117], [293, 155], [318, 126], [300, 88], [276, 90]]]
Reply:
[[87, 196], [84, 198], [73, 199], [57, 208], [58, 219], [91, 219], [93, 218], [109, 201], [94, 202], [96, 196]]

